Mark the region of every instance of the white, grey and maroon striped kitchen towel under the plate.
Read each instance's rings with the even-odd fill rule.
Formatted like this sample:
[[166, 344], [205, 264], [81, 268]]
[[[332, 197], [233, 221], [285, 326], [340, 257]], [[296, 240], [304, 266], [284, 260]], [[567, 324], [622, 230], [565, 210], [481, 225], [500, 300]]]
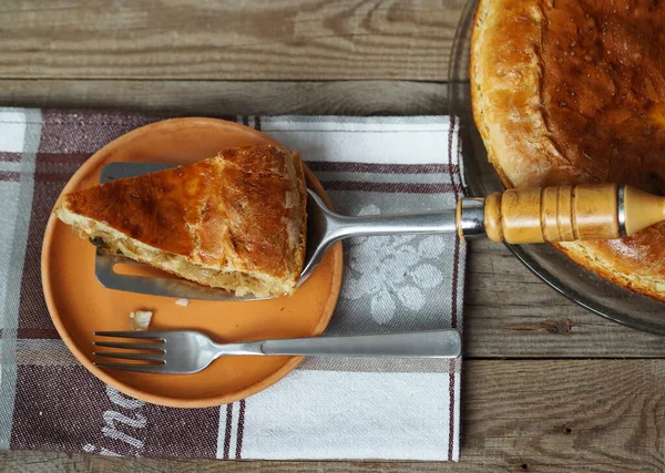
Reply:
[[[163, 119], [0, 109], [0, 449], [457, 461], [461, 359], [308, 359], [274, 387], [209, 409], [131, 399], [75, 361], [42, 294], [49, 214], [91, 154]], [[299, 151], [342, 214], [441, 209], [463, 193], [448, 116], [225, 119]], [[464, 259], [454, 235], [346, 241], [341, 296], [326, 333], [461, 329]]]

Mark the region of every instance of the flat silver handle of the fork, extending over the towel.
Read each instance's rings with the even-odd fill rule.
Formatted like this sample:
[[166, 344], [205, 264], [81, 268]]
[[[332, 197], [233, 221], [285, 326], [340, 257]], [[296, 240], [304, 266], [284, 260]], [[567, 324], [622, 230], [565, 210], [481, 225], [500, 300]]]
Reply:
[[457, 330], [294, 338], [265, 340], [259, 343], [260, 353], [257, 354], [396, 358], [457, 358], [462, 345]]

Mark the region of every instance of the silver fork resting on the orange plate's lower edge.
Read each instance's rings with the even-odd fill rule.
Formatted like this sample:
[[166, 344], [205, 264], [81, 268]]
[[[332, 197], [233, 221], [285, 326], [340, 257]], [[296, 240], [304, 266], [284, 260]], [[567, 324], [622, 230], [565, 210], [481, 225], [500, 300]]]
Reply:
[[457, 358], [461, 351], [457, 330], [429, 330], [408, 333], [310, 337], [216, 343], [193, 330], [95, 331], [98, 337], [133, 341], [93, 341], [95, 347], [131, 349], [134, 352], [94, 351], [95, 357], [133, 360], [110, 363], [93, 361], [102, 368], [147, 373], [186, 374], [207, 368], [227, 354], [305, 357], [395, 357]]

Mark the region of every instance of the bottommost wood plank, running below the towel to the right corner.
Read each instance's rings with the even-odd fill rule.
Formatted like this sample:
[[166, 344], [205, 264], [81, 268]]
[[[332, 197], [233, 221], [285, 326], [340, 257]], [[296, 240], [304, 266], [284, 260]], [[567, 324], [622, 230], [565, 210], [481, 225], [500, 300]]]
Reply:
[[31, 473], [662, 472], [665, 360], [475, 360], [464, 366], [462, 459], [434, 462], [217, 462], [6, 452]]

